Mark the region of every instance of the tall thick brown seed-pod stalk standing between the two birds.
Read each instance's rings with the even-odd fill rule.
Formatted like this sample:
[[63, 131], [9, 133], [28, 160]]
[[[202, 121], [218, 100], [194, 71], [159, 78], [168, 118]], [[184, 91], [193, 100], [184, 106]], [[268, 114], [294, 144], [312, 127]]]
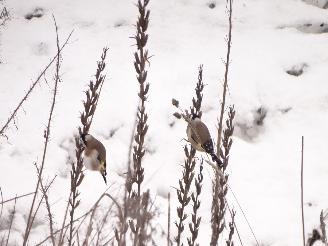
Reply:
[[[138, 96], [141, 100], [141, 105], [138, 106], [136, 133], [134, 134], [136, 145], [133, 145], [133, 167], [128, 166], [125, 182], [127, 195], [124, 197], [123, 218], [120, 218], [120, 225], [114, 230], [119, 246], [126, 245], [126, 233], [129, 228], [131, 230], [133, 246], [145, 245], [147, 240], [149, 240], [149, 235], [147, 235], [147, 226], [150, 223], [150, 220], [147, 219], [147, 207], [150, 201], [149, 192], [141, 193], [141, 184], [144, 179], [144, 168], [141, 165], [141, 160], [146, 154], [144, 141], [149, 127], [147, 125], [148, 114], [145, 113], [145, 102], [147, 101], [147, 93], [149, 91], [149, 83], [146, 82], [148, 71], [145, 70], [145, 67], [146, 62], [149, 63], [148, 59], [151, 57], [148, 56], [148, 50], [145, 49], [148, 40], [146, 31], [148, 29], [150, 15], [150, 10], [146, 10], [148, 3], [149, 0], [143, 0], [143, 3], [141, 0], [138, 0], [138, 3], [135, 4], [140, 15], [135, 25], [136, 34], [131, 37], [136, 40], [135, 46], [137, 46], [138, 50], [134, 52], [135, 61], [133, 64], [140, 86]], [[133, 189], [133, 184], [137, 186], [136, 190]], [[131, 219], [127, 223], [128, 216]]]

